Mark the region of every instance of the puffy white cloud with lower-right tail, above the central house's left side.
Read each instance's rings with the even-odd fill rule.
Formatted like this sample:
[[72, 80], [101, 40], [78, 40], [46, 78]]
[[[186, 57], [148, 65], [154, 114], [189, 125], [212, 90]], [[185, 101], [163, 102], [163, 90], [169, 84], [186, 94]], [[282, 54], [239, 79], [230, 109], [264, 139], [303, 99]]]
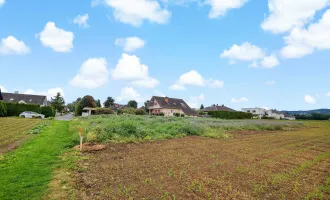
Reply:
[[131, 81], [133, 85], [154, 88], [159, 81], [149, 76], [149, 67], [141, 63], [135, 55], [122, 54], [116, 67], [111, 72], [115, 80]]

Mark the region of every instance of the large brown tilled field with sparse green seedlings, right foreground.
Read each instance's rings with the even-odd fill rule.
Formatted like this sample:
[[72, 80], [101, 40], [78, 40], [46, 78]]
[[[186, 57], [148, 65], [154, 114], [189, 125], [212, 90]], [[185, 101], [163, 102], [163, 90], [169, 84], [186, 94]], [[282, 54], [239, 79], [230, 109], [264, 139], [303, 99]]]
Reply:
[[78, 199], [330, 199], [329, 122], [291, 131], [246, 123], [219, 129], [233, 138], [110, 143], [86, 153], [75, 176]]

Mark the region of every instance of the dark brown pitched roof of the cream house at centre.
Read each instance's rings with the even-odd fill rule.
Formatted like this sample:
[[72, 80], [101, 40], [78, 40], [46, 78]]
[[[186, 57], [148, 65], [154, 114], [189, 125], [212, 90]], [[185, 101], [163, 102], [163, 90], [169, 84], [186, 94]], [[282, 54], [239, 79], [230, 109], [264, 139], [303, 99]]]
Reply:
[[[165, 100], [166, 98], [168, 99], [168, 101]], [[189, 105], [182, 99], [153, 96], [150, 100], [148, 107], [153, 106], [155, 100], [157, 101], [157, 103], [161, 108], [181, 109], [182, 112], [184, 112], [184, 114], [186, 115], [189, 116], [197, 115], [197, 112], [191, 109]]]

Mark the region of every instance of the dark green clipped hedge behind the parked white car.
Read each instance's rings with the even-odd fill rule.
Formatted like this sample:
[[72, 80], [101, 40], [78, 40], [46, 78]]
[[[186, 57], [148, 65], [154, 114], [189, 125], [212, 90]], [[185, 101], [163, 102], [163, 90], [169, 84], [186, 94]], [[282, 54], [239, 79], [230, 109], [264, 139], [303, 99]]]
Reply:
[[6, 103], [7, 116], [19, 116], [24, 111], [41, 113], [41, 107], [38, 104]]

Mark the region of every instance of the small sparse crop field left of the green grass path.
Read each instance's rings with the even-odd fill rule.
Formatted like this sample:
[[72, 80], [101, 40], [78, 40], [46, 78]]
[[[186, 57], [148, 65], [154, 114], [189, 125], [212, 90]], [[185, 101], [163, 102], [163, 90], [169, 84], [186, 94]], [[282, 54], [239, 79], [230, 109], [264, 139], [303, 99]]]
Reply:
[[19, 146], [28, 131], [40, 123], [38, 119], [0, 118], [0, 154]]

